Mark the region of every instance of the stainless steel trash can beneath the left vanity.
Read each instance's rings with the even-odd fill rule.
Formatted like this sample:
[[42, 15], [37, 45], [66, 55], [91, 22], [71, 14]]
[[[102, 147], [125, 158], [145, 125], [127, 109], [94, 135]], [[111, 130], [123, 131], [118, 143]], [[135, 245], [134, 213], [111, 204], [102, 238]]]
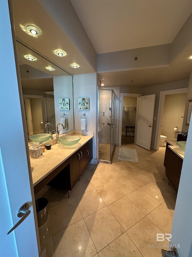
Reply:
[[41, 227], [47, 221], [48, 217], [48, 200], [46, 198], [38, 198], [35, 200], [37, 211], [38, 227]]

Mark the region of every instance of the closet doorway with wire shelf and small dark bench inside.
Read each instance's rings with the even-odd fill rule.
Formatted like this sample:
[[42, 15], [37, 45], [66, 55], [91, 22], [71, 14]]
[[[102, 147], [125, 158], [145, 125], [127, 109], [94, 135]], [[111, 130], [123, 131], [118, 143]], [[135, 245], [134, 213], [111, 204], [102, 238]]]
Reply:
[[119, 146], [134, 144], [137, 97], [142, 94], [121, 93]]

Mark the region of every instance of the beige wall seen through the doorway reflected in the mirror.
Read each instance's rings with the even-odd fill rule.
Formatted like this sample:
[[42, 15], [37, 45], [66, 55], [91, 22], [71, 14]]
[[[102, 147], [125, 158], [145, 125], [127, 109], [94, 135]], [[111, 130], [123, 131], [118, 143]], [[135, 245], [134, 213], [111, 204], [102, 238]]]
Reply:
[[43, 120], [42, 108], [41, 108], [41, 98], [30, 98], [31, 105], [31, 115], [33, 121], [33, 133], [43, 132], [43, 126], [40, 125]]

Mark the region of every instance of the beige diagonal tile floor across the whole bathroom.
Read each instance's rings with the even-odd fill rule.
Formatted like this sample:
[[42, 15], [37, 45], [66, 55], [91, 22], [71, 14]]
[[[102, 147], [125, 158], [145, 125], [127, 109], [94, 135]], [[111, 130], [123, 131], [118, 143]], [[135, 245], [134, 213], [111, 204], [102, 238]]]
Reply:
[[163, 166], [165, 147], [122, 147], [136, 149], [139, 163], [118, 160], [116, 147], [112, 164], [86, 168], [70, 199], [63, 189], [46, 192], [49, 215], [39, 233], [47, 257], [162, 256], [156, 234], [170, 233], [176, 202]]

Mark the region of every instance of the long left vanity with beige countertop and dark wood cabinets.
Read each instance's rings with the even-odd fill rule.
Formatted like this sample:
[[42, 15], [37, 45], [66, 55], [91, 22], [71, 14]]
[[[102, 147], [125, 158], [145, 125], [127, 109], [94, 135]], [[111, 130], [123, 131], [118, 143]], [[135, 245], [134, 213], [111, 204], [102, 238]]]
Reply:
[[[74, 136], [80, 136], [74, 134]], [[34, 193], [45, 185], [63, 187], [70, 190], [76, 184], [93, 158], [93, 136], [80, 136], [73, 146], [52, 145], [37, 159], [30, 158]]]

